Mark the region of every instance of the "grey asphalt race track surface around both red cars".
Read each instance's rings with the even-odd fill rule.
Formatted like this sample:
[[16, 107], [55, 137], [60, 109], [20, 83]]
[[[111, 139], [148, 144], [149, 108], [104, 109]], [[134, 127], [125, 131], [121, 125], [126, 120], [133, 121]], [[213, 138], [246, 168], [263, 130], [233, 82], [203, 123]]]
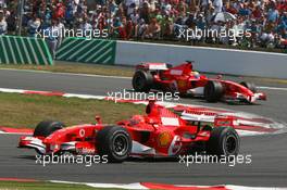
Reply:
[[[239, 78], [232, 77], [234, 80]], [[269, 84], [267, 84], [269, 85]], [[262, 83], [260, 86], [266, 86]], [[273, 85], [276, 87], [276, 85]], [[279, 85], [278, 87], [285, 88]], [[0, 69], [0, 88], [51, 90], [71, 93], [107, 96], [107, 91], [130, 89], [130, 79], [66, 74]], [[287, 87], [286, 87], [287, 88]], [[200, 99], [180, 102], [226, 107], [287, 122], [287, 90], [264, 89], [269, 100], [255, 105], [205, 103]], [[82, 182], [167, 182], [189, 185], [240, 185], [287, 187], [287, 135], [244, 137], [241, 151], [251, 154], [251, 164], [191, 164], [178, 161], [128, 161], [124, 164], [58, 164], [46, 167], [35, 163], [33, 150], [16, 149], [18, 136], [0, 136], [0, 177], [71, 180]]]

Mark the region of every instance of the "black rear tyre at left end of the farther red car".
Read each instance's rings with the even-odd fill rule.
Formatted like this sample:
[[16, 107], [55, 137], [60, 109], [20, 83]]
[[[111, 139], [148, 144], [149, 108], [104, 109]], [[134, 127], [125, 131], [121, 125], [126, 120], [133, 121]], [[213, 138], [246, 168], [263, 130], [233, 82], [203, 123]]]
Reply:
[[149, 72], [137, 71], [133, 77], [133, 88], [139, 92], [149, 92], [152, 81], [153, 78]]

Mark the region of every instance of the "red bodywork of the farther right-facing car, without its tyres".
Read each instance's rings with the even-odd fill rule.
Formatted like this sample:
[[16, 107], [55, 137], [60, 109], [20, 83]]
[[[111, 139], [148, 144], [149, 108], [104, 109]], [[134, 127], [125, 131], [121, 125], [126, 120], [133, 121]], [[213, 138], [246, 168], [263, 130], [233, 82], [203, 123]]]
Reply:
[[217, 78], [208, 78], [200, 75], [192, 68], [192, 63], [187, 62], [169, 68], [165, 63], [144, 63], [136, 66], [136, 71], [150, 72], [153, 77], [153, 87], [164, 91], [178, 91], [180, 94], [191, 92], [196, 96], [203, 94], [203, 88], [209, 80], [220, 81], [224, 88], [225, 100], [245, 100], [254, 102], [255, 100], [266, 100], [266, 96], [262, 92], [252, 92], [247, 87], [230, 80]]

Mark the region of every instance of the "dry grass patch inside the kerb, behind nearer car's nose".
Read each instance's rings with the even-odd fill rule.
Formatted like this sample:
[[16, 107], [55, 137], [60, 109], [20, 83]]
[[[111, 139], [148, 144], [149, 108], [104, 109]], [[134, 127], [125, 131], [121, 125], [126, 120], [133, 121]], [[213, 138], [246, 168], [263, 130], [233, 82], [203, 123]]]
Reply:
[[60, 121], [66, 126], [92, 124], [96, 115], [104, 124], [115, 124], [145, 113], [145, 105], [132, 103], [3, 92], [0, 92], [0, 125], [15, 128], [35, 128], [45, 119]]

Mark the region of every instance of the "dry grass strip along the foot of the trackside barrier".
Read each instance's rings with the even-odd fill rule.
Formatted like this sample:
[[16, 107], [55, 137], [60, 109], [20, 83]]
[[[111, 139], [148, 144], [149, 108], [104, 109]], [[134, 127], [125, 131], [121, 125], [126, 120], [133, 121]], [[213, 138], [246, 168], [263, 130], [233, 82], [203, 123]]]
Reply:
[[[135, 73], [135, 67], [132, 67], [132, 66], [84, 64], [84, 63], [71, 63], [71, 62], [63, 62], [63, 61], [54, 61], [53, 66], [29, 65], [29, 64], [26, 64], [26, 65], [0, 64], [0, 69], [5, 69], [5, 68], [7, 69], [10, 69], [10, 68], [32, 69], [32, 71], [43, 71], [43, 72], [53, 72], [53, 73], [74, 73], [74, 74], [90, 74], [90, 75], [104, 75], [104, 76], [121, 76], [121, 77], [133, 77]], [[215, 74], [211, 74], [211, 77], [214, 77], [214, 76]], [[226, 75], [226, 76], [234, 76], [234, 75]], [[235, 77], [238, 77], [238, 76], [235, 76]], [[244, 78], [246, 80], [250, 80], [254, 83], [287, 85], [286, 79], [252, 77], [252, 76], [245, 76]]]

